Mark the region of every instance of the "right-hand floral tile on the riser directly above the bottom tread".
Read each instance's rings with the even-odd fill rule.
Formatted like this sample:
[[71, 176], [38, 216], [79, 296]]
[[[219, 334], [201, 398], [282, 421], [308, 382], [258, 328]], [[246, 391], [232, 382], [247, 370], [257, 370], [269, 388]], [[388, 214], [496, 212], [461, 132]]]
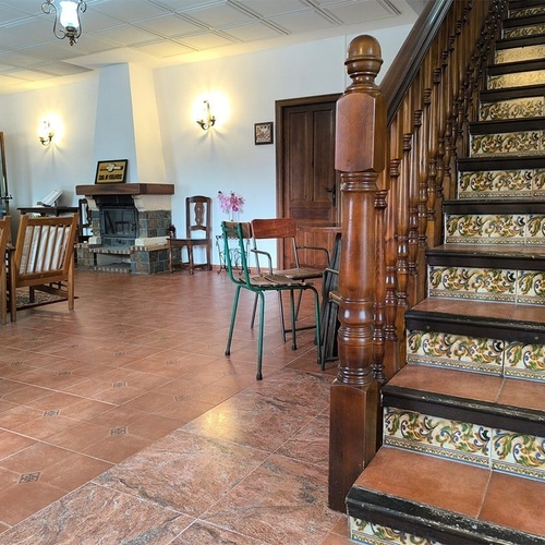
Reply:
[[545, 481], [545, 438], [494, 429], [492, 467], [505, 473]]

